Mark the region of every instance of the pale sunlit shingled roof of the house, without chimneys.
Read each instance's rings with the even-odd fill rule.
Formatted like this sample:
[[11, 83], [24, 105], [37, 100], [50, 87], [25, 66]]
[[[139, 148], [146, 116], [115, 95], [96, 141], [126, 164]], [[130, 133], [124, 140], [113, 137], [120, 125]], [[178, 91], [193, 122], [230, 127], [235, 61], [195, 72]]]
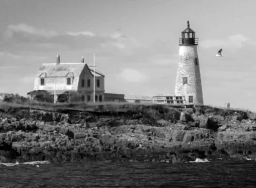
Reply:
[[[42, 64], [39, 68], [36, 77], [79, 77], [82, 73], [86, 63], [73, 63], [73, 62], [66, 62], [66, 63], [49, 63], [49, 64]], [[94, 75], [93, 66], [88, 66], [92, 75]], [[100, 72], [98, 67], [95, 68], [96, 77], [104, 77], [104, 75]]]

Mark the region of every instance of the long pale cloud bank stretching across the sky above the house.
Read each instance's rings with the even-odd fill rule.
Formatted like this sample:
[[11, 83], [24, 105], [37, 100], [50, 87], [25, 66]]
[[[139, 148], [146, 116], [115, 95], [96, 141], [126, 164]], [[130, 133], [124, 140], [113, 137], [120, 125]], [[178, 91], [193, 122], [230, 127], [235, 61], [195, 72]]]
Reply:
[[[12, 52], [94, 52], [113, 56], [119, 52], [122, 55], [132, 55], [141, 48], [138, 40], [120, 32], [109, 35], [97, 35], [91, 31], [55, 32], [35, 28], [26, 23], [7, 26], [1, 46]], [[118, 50], [118, 51], [117, 51]]]

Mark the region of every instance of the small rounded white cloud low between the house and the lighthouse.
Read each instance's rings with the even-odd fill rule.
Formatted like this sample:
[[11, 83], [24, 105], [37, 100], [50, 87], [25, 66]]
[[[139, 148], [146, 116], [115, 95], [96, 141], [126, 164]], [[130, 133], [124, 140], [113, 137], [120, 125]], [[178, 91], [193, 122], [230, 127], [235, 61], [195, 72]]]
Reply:
[[128, 83], [143, 83], [148, 79], [146, 75], [132, 68], [125, 68], [119, 75], [119, 78]]

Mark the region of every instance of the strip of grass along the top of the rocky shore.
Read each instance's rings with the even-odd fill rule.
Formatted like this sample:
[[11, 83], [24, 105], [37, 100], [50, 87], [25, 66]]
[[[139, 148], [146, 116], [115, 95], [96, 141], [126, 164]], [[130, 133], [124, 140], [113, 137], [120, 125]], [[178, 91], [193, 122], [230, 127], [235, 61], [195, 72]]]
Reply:
[[[92, 111], [92, 112], [131, 112], [131, 113], [146, 113], [148, 115], [155, 115], [157, 113], [177, 113], [178, 111], [182, 111], [184, 107], [193, 107], [193, 105], [160, 105], [154, 103], [115, 103], [115, 102], [102, 102], [102, 103], [45, 103], [40, 102], [36, 103], [33, 101], [29, 101], [26, 103], [11, 103], [11, 102], [0, 102], [0, 111], [11, 112], [18, 111], [20, 109], [37, 109], [44, 111]], [[220, 111], [243, 111], [246, 112], [245, 109], [238, 108], [226, 108], [226, 107], [218, 107], [214, 105], [199, 105], [199, 108], [210, 109], [210, 111], [216, 111], [220, 113]], [[65, 112], [66, 113], [66, 112]]]

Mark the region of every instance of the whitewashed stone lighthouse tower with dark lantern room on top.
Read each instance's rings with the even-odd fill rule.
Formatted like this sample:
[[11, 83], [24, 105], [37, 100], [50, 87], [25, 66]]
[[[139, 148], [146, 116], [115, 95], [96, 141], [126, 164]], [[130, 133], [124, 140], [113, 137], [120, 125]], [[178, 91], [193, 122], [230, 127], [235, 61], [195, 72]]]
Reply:
[[187, 28], [181, 32], [181, 38], [179, 39], [180, 48], [175, 95], [185, 96], [187, 104], [203, 105], [197, 45], [198, 38], [195, 38], [195, 32], [191, 30], [189, 21], [187, 21]]

